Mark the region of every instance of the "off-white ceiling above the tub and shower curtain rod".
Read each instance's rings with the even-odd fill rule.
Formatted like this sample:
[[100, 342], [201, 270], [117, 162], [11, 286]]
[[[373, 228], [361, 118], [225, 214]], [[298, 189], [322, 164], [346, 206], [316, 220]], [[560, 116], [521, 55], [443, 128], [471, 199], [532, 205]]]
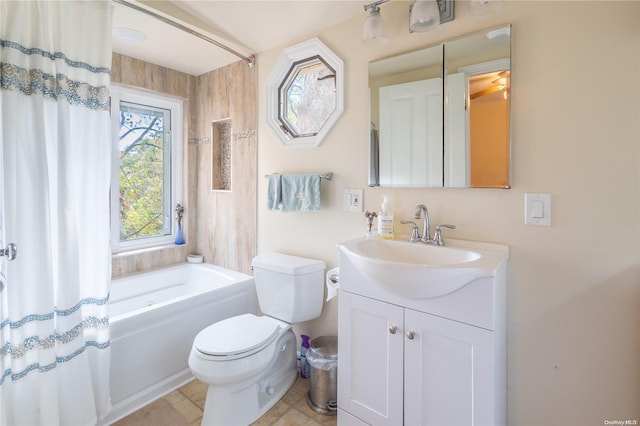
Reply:
[[[252, 56], [292, 40], [311, 36], [361, 15], [366, 1], [356, 0], [126, 0], [169, 17], [213, 38], [244, 56]], [[145, 35], [129, 45], [113, 37], [113, 51], [191, 75], [240, 60], [192, 34], [127, 6], [114, 3], [114, 28]]]

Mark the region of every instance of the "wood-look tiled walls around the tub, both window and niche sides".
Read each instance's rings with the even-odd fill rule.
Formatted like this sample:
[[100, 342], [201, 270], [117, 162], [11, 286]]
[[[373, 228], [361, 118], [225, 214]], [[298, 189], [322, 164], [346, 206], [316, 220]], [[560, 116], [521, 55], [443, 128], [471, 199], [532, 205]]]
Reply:
[[[191, 253], [203, 254], [205, 262], [249, 272], [256, 238], [255, 79], [255, 70], [244, 62], [194, 77], [113, 54], [113, 83], [184, 99], [182, 204], [187, 231], [187, 244], [182, 246], [114, 255], [113, 278], [184, 262]], [[231, 191], [212, 191], [211, 128], [222, 119], [230, 119], [232, 126]]]

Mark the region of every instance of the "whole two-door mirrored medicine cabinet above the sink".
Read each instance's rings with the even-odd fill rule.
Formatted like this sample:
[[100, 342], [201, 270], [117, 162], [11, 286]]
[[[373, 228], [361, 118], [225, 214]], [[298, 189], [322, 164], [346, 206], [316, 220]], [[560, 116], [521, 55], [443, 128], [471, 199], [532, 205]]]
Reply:
[[511, 25], [369, 63], [369, 186], [510, 187]]

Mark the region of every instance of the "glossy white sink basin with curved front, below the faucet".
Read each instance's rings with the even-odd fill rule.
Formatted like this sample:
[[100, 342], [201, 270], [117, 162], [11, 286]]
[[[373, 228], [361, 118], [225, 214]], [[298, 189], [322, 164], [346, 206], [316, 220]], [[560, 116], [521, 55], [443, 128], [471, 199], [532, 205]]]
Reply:
[[418, 299], [443, 296], [475, 279], [491, 277], [507, 257], [504, 251], [492, 250], [491, 244], [452, 239], [447, 244], [358, 238], [338, 244], [338, 249], [342, 259], [375, 285]]

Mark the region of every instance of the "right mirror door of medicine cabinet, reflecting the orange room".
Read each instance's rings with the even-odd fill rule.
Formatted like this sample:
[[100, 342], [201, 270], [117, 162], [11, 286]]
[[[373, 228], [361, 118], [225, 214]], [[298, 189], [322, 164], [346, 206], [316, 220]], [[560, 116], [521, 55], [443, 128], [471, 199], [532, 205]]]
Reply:
[[511, 26], [444, 44], [444, 184], [510, 187]]

